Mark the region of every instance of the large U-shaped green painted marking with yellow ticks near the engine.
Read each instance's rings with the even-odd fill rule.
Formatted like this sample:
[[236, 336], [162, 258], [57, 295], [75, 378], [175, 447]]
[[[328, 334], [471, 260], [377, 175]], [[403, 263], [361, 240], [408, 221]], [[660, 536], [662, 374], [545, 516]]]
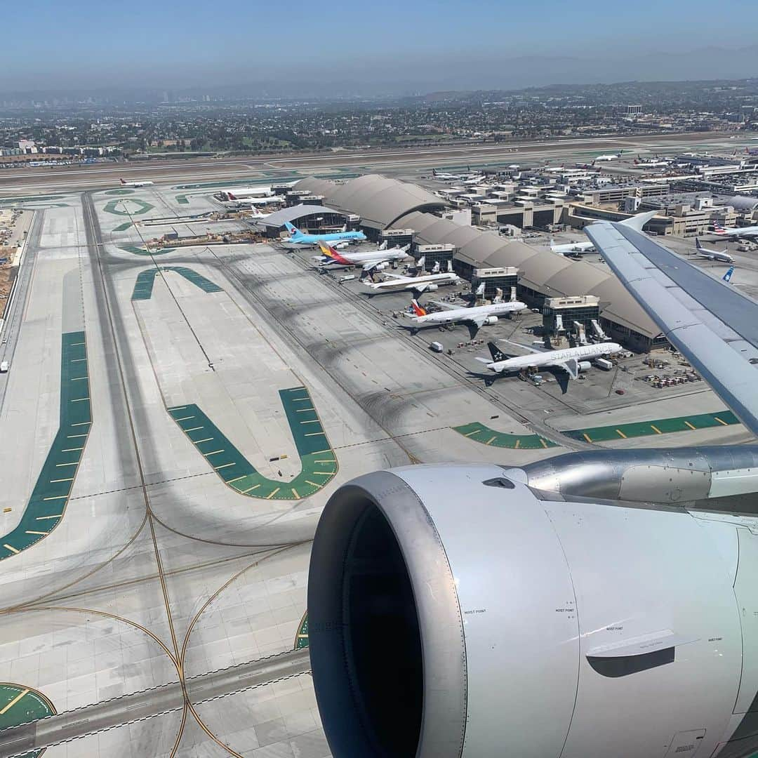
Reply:
[[[279, 397], [301, 462], [300, 473], [292, 481], [268, 479], [258, 473], [198, 406], [177, 406], [169, 408], [168, 412], [211, 468], [233, 490], [263, 500], [301, 500], [318, 492], [334, 478], [338, 468], [337, 456], [329, 446], [315, 409], [312, 410], [316, 416], [313, 421], [318, 424], [318, 432], [305, 431], [314, 429], [313, 426], [302, 428], [302, 417], [296, 414], [294, 403], [298, 399], [308, 399], [313, 405], [308, 390], [305, 387], [279, 390]], [[188, 415], [189, 418], [186, 418]], [[195, 435], [199, 439], [192, 435], [196, 431], [200, 431], [200, 434]]]

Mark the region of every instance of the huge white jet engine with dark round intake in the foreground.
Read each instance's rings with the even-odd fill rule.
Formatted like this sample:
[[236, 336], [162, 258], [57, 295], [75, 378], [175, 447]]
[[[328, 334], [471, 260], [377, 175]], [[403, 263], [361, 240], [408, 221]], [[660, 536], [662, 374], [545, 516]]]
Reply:
[[[613, 451], [606, 468], [575, 453], [340, 487], [308, 590], [335, 758], [758, 750], [758, 535], [706, 511], [746, 485], [703, 450], [683, 459], [694, 467], [672, 451]], [[696, 505], [651, 506], [651, 491]]]

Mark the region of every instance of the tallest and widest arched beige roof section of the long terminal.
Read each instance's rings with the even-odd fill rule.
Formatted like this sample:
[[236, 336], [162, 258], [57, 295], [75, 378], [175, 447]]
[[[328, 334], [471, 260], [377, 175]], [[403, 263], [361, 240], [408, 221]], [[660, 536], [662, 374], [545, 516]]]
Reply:
[[381, 174], [365, 174], [344, 184], [302, 179], [294, 189], [310, 189], [312, 193], [323, 195], [329, 205], [358, 214], [363, 225], [376, 229], [390, 227], [413, 211], [436, 211], [449, 205], [428, 189]]

